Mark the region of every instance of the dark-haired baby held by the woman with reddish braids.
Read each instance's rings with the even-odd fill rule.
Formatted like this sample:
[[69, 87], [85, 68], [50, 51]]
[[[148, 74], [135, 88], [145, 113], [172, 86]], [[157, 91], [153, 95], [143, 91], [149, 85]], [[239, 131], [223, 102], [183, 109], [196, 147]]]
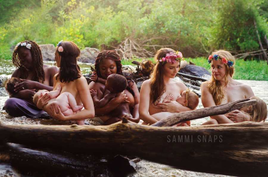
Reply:
[[[109, 75], [105, 83], [105, 91], [102, 99], [98, 99], [96, 90], [90, 90], [94, 105], [98, 108], [102, 108], [111, 99], [115, 98], [116, 94], [124, 91], [127, 88], [127, 84], [127, 79], [124, 76], [119, 74]], [[105, 124], [113, 124], [117, 122], [116, 118], [121, 119], [125, 116], [133, 117], [130, 113], [129, 104], [121, 103], [116, 109], [111, 112], [111, 115], [105, 118], [107, 119], [107, 121], [105, 121]]]

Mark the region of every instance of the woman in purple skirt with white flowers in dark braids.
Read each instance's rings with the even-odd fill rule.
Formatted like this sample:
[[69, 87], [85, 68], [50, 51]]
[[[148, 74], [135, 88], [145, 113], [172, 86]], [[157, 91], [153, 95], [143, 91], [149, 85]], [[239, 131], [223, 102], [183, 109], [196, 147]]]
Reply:
[[22, 82], [15, 85], [15, 94], [10, 94], [4, 109], [10, 116], [48, 116], [33, 104], [32, 97], [36, 90], [52, 91], [53, 76], [58, 72], [58, 67], [43, 64], [40, 47], [31, 40], [16, 45], [12, 62], [17, 69], [11, 77], [20, 78]]

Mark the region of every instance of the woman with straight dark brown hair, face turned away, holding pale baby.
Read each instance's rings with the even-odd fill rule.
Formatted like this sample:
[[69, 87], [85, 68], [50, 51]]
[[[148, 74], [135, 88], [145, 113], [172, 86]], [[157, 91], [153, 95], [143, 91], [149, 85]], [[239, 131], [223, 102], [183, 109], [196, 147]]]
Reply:
[[[80, 49], [74, 42], [60, 41], [58, 43], [55, 51], [55, 61], [57, 62], [57, 66], [60, 67], [60, 71], [54, 76], [53, 90], [56, 90], [57, 87], [61, 85], [60, 94], [69, 92], [74, 96], [77, 105], [83, 105], [85, 109], [74, 114], [64, 116], [59, 105], [51, 105], [49, 114], [53, 118], [61, 121], [74, 120], [78, 121], [78, 124], [83, 124], [84, 119], [94, 117], [95, 111], [93, 101], [88, 90], [88, 82], [81, 74], [80, 67], [77, 64], [77, 57], [79, 55]], [[46, 105], [49, 99], [49, 96], [44, 94], [38, 100], [38, 108], [42, 108]], [[41, 103], [39, 103], [40, 100]]]

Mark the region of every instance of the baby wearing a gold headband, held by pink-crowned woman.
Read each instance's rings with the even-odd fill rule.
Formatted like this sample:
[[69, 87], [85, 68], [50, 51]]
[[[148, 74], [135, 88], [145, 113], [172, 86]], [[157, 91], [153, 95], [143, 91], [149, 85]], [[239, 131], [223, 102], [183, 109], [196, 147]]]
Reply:
[[[163, 99], [163, 103], [165, 103], [166, 101], [170, 101], [173, 98], [174, 98], [173, 95], [167, 95], [166, 98]], [[190, 91], [190, 89], [187, 88], [186, 91], [182, 92], [181, 96], [177, 97], [176, 102], [194, 110], [199, 103], [199, 98], [198, 98], [197, 94], [195, 94], [193, 91]], [[173, 114], [177, 114], [177, 113], [161, 112], [161, 113], [153, 114], [152, 117], [155, 118], [156, 120], [160, 121], [161, 119], [172, 116]], [[190, 126], [190, 124], [191, 124], [190, 121], [186, 121], [185, 123], [188, 126]], [[180, 123], [180, 124], [177, 124], [177, 126], [183, 125], [183, 124], [184, 123]]]

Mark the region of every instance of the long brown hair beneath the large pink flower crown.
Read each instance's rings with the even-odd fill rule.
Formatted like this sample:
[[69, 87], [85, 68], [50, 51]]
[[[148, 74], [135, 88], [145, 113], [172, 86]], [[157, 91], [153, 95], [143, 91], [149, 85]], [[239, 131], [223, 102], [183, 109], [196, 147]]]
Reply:
[[[175, 53], [175, 50], [171, 48], [161, 48], [155, 54], [155, 61], [158, 61], [159, 59], [166, 57], [166, 54], [170, 52]], [[166, 92], [166, 85], [163, 79], [163, 74], [164, 74], [163, 70], [164, 70], [165, 64], [166, 62], [164, 64], [157, 62], [151, 74], [150, 99], [152, 100], [154, 105], [157, 104], [157, 103], [155, 104], [155, 101], [159, 102], [163, 93]]]

